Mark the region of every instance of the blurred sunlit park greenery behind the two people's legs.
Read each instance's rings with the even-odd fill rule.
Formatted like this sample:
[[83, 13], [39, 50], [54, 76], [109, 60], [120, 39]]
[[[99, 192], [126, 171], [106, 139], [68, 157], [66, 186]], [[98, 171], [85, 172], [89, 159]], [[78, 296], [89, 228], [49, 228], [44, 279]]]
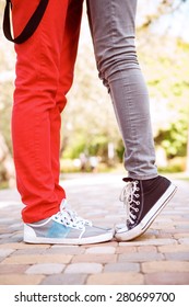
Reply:
[[[95, 0], [94, 0], [95, 1]], [[14, 186], [11, 109], [15, 54], [2, 34], [0, 0], [0, 187]], [[139, 0], [138, 56], [151, 98], [162, 172], [189, 175], [189, 0]], [[74, 84], [62, 114], [61, 171], [121, 170], [123, 147], [110, 98], [98, 79], [84, 7]]]

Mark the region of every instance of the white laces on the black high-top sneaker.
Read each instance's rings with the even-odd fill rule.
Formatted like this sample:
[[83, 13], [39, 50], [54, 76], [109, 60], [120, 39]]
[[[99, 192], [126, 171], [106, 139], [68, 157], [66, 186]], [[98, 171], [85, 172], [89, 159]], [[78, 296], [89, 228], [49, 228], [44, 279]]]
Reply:
[[135, 207], [140, 205], [140, 202], [137, 201], [137, 198], [140, 196], [138, 194], [139, 190], [140, 189], [138, 187], [138, 181], [129, 181], [123, 187], [119, 197], [120, 201], [126, 205], [127, 220], [129, 220], [132, 225], [134, 224], [134, 220], [137, 218], [137, 215], [132, 212], [139, 212], [139, 208]]

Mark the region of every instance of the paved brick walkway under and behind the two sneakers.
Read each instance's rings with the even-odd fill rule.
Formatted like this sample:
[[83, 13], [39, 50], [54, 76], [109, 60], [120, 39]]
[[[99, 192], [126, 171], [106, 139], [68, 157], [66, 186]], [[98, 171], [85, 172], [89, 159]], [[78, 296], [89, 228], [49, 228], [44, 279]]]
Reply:
[[[175, 182], [177, 194], [142, 237], [82, 247], [24, 243], [19, 195], [0, 191], [0, 284], [188, 285], [189, 182]], [[107, 226], [123, 218], [120, 174], [69, 175], [63, 185], [83, 217]]]

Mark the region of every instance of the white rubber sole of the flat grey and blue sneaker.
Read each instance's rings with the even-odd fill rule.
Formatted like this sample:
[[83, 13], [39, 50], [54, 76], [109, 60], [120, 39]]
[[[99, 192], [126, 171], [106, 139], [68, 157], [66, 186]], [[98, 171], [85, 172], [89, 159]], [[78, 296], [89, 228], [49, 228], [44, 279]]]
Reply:
[[24, 242], [33, 245], [69, 245], [69, 246], [81, 246], [81, 245], [93, 245], [99, 242], [110, 241], [114, 237], [114, 229], [107, 230], [107, 232], [88, 237], [88, 238], [45, 238], [36, 237], [35, 231], [32, 227], [24, 224]]

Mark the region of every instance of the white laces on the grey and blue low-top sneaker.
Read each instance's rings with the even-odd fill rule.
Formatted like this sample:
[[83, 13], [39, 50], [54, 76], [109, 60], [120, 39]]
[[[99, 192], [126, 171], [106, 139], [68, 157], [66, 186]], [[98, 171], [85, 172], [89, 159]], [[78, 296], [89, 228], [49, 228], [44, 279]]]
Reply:
[[85, 226], [92, 226], [92, 223], [87, 219], [80, 217], [74, 211], [68, 208], [66, 200], [60, 205], [60, 212], [52, 216], [52, 219], [59, 224], [63, 224], [67, 227], [84, 230]]

